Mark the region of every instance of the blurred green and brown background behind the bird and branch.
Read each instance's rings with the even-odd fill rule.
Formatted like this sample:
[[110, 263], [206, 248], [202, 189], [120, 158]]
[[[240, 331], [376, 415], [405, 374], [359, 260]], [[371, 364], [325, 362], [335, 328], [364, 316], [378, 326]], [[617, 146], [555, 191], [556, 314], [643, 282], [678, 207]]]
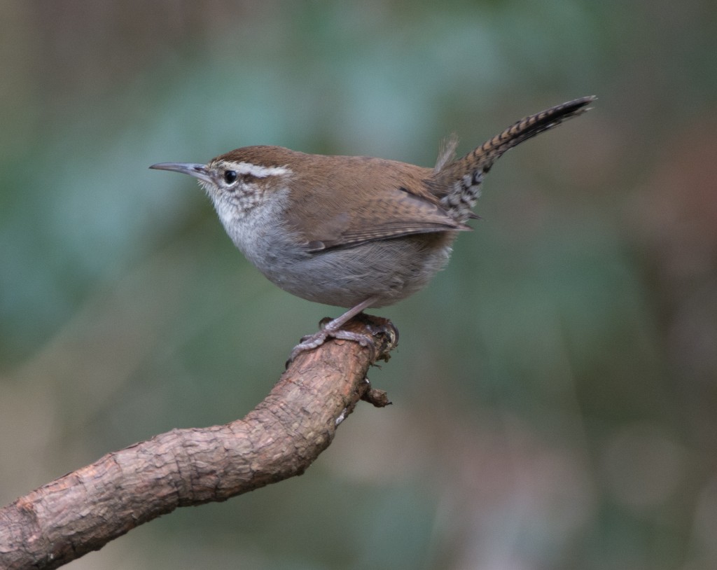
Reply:
[[242, 417], [338, 309], [270, 285], [194, 181], [276, 144], [432, 166], [524, 115], [476, 231], [376, 313], [401, 345], [300, 478], [79, 569], [717, 567], [717, 5], [0, 1], [0, 500]]

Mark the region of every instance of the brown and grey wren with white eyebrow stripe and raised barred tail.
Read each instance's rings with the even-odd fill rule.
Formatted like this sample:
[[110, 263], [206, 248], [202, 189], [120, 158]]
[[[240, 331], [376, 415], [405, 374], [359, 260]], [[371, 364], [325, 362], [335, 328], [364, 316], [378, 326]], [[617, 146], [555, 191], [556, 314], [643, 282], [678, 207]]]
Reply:
[[323, 156], [278, 146], [237, 148], [206, 164], [150, 166], [199, 179], [234, 244], [270, 281], [298, 297], [350, 308], [305, 337], [371, 339], [341, 326], [366, 308], [421, 289], [448, 261], [483, 175], [508, 149], [584, 113], [594, 97], [557, 105], [504, 130], [463, 158], [456, 141], [435, 168], [366, 156]]

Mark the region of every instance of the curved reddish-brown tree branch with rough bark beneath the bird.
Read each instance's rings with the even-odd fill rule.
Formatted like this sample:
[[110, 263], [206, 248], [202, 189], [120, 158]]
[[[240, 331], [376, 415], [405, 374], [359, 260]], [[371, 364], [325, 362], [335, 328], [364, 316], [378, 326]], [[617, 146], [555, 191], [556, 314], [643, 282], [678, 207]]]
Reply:
[[57, 568], [177, 507], [227, 500], [301, 475], [359, 399], [389, 403], [385, 393], [370, 389], [366, 372], [375, 360], [388, 360], [396, 329], [368, 315], [346, 328], [373, 336], [375, 353], [355, 342], [328, 341], [300, 354], [244, 419], [172, 429], [0, 510], [0, 567]]

